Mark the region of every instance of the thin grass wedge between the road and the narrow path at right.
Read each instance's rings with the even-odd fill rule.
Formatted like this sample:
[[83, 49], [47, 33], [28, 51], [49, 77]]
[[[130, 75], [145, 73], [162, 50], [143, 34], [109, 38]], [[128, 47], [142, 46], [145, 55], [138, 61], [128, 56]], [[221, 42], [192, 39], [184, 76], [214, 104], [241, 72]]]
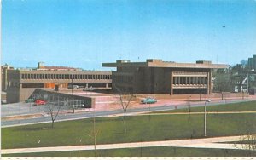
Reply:
[[[203, 106], [191, 107], [191, 112], [204, 111]], [[256, 101], [248, 101], [234, 104], [224, 104], [218, 106], [211, 106], [211, 103], [207, 103], [207, 111], [256, 111]], [[153, 113], [164, 113], [164, 112], [189, 112], [188, 108], [170, 110], [170, 111], [156, 111]]]

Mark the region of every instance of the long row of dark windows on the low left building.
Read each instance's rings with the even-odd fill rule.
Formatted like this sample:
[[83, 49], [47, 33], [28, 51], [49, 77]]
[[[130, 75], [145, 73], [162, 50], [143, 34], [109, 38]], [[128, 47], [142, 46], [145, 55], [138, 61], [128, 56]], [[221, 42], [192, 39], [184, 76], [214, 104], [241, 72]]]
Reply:
[[21, 79], [111, 79], [111, 75], [92, 74], [21, 74]]

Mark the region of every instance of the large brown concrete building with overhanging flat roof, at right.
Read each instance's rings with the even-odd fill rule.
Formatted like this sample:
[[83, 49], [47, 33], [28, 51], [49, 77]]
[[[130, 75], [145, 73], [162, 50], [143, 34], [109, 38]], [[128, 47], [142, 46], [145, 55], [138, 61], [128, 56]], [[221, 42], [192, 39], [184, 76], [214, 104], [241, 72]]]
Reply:
[[212, 69], [227, 68], [224, 64], [212, 64], [199, 60], [196, 63], [175, 63], [162, 60], [131, 62], [117, 60], [102, 63], [116, 67], [112, 72], [113, 90], [134, 94], [211, 94]]

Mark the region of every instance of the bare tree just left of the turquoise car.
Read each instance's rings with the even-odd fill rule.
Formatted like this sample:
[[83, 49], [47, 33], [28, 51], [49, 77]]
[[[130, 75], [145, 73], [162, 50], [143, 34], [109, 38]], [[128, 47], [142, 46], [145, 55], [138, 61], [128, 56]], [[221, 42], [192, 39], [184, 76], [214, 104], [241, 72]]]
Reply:
[[130, 102], [131, 102], [132, 98], [134, 97], [134, 95], [133, 94], [124, 94], [121, 91], [121, 89], [119, 89], [115, 85], [113, 85], [113, 87], [115, 89], [117, 89], [117, 91], [119, 93], [119, 103], [122, 106], [122, 109], [124, 111], [123, 124], [124, 124], [125, 133], [126, 133], [126, 125], [125, 125], [126, 112], [127, 112], [127, 108], [130, 106]]

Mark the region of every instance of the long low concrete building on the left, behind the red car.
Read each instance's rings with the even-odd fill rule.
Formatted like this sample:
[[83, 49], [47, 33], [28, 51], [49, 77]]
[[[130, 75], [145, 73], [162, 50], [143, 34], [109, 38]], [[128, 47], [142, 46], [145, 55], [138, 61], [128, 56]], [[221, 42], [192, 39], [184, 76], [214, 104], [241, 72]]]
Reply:
[[112, 84], [111, 71], [82, 71], [64, 66], [44, 66], [38, 68], [7, 71], [7, 103], [26, 100], [35, 89], [58, 89], [68, 85], [83, 88], [107, 88]]

